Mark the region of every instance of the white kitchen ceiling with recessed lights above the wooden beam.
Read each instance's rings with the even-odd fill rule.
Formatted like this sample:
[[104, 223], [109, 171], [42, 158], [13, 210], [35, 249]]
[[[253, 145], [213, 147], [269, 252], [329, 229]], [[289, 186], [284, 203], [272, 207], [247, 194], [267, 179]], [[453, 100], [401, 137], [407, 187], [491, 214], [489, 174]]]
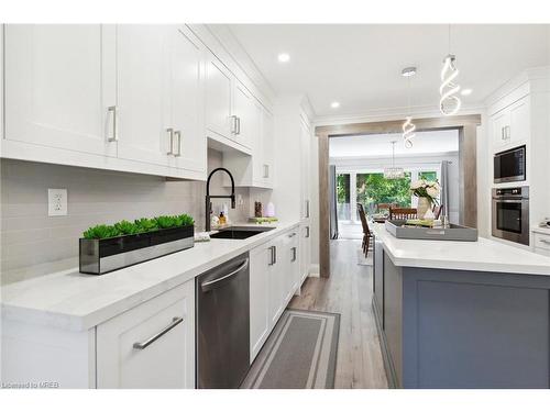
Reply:
[[[458, 83], [472, 88], [464, 105], [479, 105], [506, 80], [549, 63], [548, 25], [452, 25], [451, 53]], [[352, 115], [405, 108], [407, 79], [411, 105], [439, 102], [441, 62], [449, 53], [449, 26], [442, 24], [230, 24], [277, 94], [306, 93], [318, 116]], [[280, 64], [279, 53], [290, 60]], [[330, 103], [339, 101], [340, 108]]]

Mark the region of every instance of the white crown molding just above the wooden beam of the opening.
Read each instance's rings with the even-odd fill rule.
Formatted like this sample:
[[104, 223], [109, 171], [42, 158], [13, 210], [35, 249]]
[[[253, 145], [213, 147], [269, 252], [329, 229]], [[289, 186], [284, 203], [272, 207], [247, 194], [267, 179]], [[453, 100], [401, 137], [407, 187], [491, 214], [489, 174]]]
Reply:
[[[486, 110], [484, 104], [469, 104], [462, 107], [460, 114], [481, 114]], [[386, 108], [373, 109], [361, 113], [342, 114], [342, 115], [328, 115], [316, 116], [314, 119], [315, 126], [338, 125], [338, 124], [352, 124], [352, 123], [371, 123], [371, 122], [385, 122], [404, 120], [406, 116], [413, 119], [427, 119], [427, 118], [444, 118], [441, 112], [432, 104], [416, 105], [413, 108]]]

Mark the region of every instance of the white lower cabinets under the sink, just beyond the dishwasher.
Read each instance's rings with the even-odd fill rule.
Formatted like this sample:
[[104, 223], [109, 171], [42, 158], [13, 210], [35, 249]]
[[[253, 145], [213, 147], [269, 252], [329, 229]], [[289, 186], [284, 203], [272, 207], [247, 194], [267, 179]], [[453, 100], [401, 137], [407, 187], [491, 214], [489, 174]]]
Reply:
[[250, 252], [251, 364], [298, 287], [298, 227]]

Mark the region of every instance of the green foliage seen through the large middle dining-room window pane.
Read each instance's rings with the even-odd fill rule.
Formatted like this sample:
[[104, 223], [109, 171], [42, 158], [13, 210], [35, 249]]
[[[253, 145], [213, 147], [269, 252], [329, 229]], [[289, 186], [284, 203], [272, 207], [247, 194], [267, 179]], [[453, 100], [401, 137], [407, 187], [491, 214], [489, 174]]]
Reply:
[[385, 179], [384, 174], [358, 174], [358, 202], [365, 208], [377, 203], [410, 208], [410, 172], [405, 172], [403, 179]]

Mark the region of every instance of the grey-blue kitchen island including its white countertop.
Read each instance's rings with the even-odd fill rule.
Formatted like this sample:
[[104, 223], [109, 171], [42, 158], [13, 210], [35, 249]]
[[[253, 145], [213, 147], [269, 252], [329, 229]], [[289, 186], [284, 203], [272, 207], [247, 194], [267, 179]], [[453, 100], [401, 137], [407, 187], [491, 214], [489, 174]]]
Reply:
[[373, 310], [397, 388], [549, 388], [550, 258], [374, 224]]

